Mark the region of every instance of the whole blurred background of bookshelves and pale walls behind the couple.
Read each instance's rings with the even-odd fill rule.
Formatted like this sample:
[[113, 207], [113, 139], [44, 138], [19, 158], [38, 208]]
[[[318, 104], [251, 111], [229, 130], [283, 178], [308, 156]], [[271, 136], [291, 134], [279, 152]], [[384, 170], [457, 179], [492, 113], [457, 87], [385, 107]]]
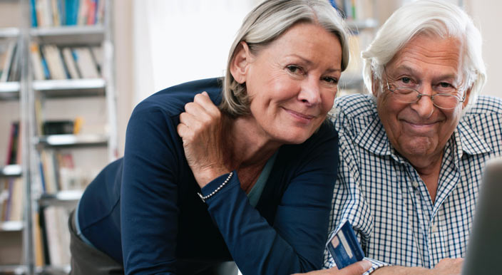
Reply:
[[[362, 51], [411, 0], [332, 1], [354, 57], [340, 95], [365, 93]], [[502, 1], [445, 0], [480, 28], [486, 95], [502, 97]], [[0, 274], [66, 274], [66, 217], [123, 155], [130, 113], [171, 85], [223, 76], [260, 0], [0, 0]]]

